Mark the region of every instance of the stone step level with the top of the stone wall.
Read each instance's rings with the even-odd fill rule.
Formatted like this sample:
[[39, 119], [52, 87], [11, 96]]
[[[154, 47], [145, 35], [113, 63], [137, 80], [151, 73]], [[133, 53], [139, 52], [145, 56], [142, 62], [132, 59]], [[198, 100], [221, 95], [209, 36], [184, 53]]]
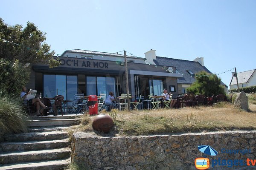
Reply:
[[49, 141], [61, 140], [68, 138], [67, 132], [53, 131], [53, 132], [35, 132], [35, 133], [21, 133], [15, 135], [4, 136], [6, 142], [26, 142], [26, 141]]

